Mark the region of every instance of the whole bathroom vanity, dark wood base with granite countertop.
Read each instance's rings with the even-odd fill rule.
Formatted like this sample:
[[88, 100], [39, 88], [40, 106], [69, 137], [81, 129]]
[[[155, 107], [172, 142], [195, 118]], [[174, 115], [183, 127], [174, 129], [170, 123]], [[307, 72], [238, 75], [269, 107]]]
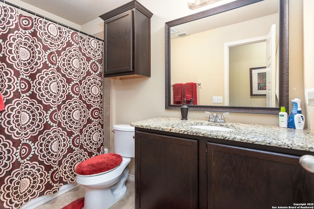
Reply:
[[314, 173], [299, 165], [314, 154], [308, 130], [169, 117], [131, 126], [136, 209], [314, 207]]

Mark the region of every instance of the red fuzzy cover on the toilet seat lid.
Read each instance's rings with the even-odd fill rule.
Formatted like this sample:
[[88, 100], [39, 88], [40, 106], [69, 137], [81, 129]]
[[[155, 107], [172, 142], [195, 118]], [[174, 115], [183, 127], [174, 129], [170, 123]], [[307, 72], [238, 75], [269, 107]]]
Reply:
[[93, 175], [111, 170], [122, 162], [122, 157], [116, 153], [107, 153], [92, 157], [79, 163], [75, 172], [79, 175]]

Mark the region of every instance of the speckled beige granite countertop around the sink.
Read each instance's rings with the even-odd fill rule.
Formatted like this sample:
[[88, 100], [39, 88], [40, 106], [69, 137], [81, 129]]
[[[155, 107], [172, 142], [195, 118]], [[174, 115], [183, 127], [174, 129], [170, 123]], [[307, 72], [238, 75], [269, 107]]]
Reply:
[[[233, 131], [215, 131], [191, 128], [192, 125], [215, 125], [233, 128]], [[157, 131], [233, 140], [288, 149], [314, 152], [314, 133], [309, 130], [296, 130], [279, 126], [267, 126], [244, 123], [213, 123], [207, 120], [172, 117], [157, 117], [138, 122], [131, 126]]]

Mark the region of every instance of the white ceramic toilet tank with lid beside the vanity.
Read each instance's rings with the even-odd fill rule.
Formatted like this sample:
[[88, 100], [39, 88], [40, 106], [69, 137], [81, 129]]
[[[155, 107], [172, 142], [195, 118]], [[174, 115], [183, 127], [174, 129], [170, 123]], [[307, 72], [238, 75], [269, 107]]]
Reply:
[[128, 158], [135, 157], [135, 128], [126, 125], [113, 126], [114, 152]]

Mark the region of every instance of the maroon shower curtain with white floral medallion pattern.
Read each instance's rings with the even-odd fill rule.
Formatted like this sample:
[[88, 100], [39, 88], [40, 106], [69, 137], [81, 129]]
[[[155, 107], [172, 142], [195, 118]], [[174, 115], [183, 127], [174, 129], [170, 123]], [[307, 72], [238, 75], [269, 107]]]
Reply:
[[103, 42], [0, 6], [0, 208], [75, 182], [104, 152]]

